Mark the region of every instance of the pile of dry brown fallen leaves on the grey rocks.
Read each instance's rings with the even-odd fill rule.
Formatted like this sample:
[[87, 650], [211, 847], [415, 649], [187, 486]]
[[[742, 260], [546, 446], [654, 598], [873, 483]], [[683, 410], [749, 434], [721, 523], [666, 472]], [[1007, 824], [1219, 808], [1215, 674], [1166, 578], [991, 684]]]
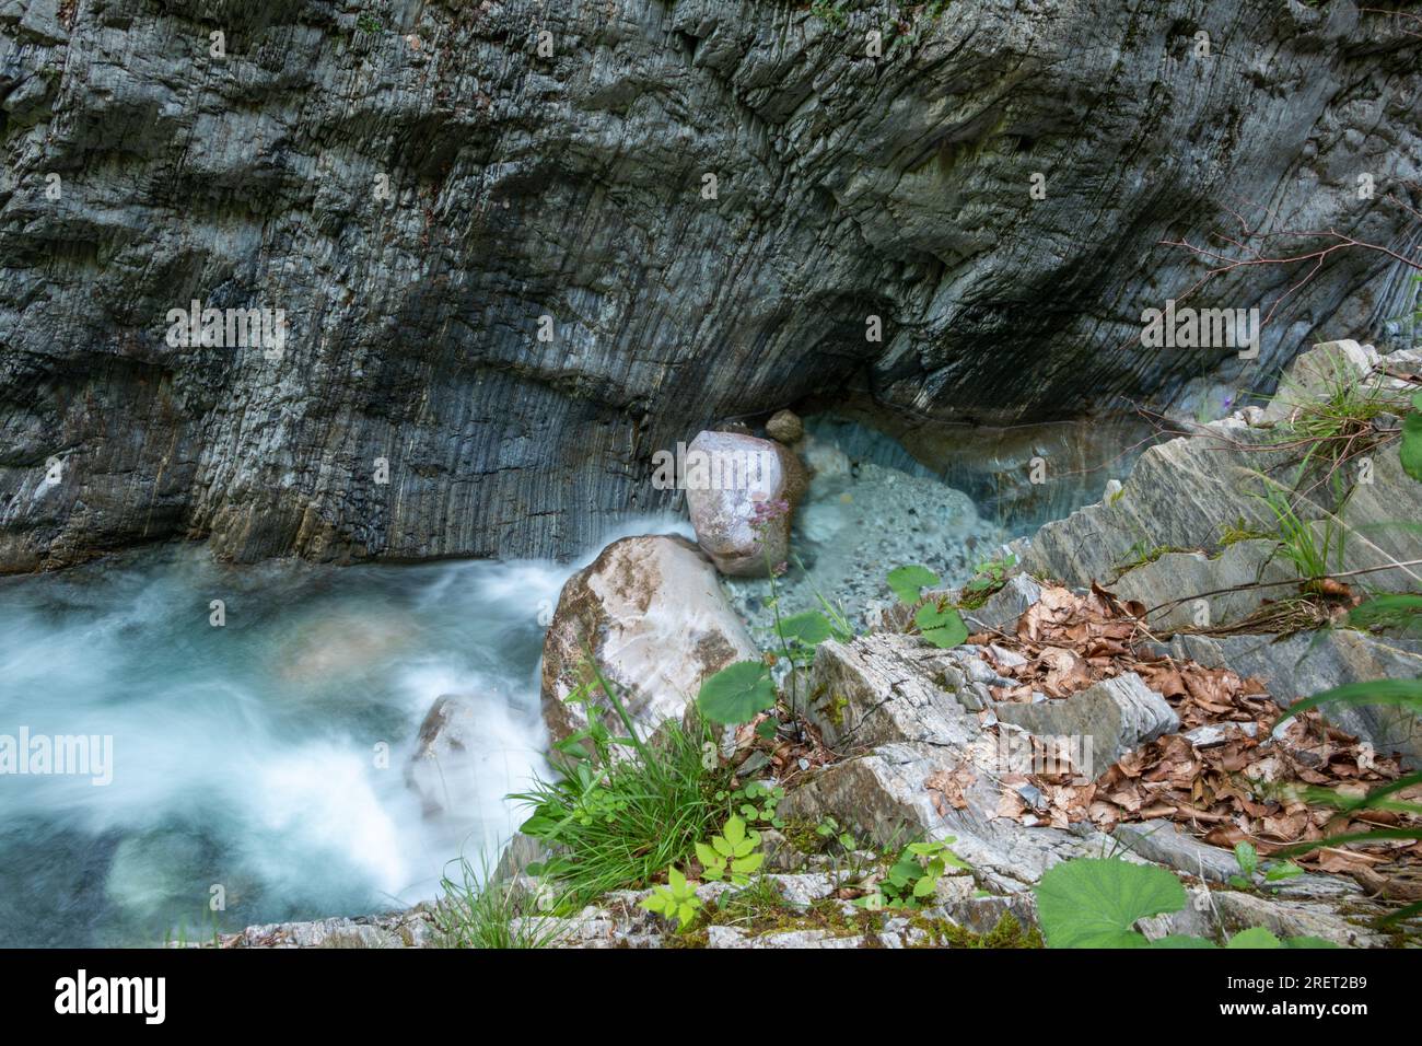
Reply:
[[[1347, 800], [1398, 780], [1396, 757], [1375, 753], [1315, 710], [1271, 739], [1281, 710], [1267, 689], [1229, 669], [1150, 652], [1142, 645], [1149, 632], [1138, 620], [1143, 611], [1096, 586], [1078, 596], [1048, 585], [1018, 619], [1014, 636], [973, 638], [993, 669], [1015, 683], [993, 687], [998, 700], [1030, 702], [1034, 690], [1062, 699], [1135, 672], [1180, 716], [1180, 733], [1128, 753], [1094, 781], [1071, 767], [1004, 776], [998, 817], [1057, 827], [1091, 821], [1105, 831], [1122, 821], [1166, 818], [1213, 845], [1249, 841], [1264, 855], [1325, 837], [1418, 824], [1409, 814], [1342, 813], [1327, 801], [1328, 793]], [[930, 787], [948, 797], [946, 783]], [[1395, 798], [1416, 801], [1416, 791]], [[1415, 840], [1321, 848], [1297, 862], [1352, 875], [1384, 897], [1422, 897], [1422, 842]]]

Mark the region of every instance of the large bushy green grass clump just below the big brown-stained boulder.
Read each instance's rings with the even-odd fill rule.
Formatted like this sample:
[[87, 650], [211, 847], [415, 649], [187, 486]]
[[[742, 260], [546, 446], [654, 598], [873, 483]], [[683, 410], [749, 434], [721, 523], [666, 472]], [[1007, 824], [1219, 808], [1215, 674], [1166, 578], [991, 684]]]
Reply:
[[529, 872], [547, 877], [572, 905], [647, 882], [690, 857], [717, 825], [722, 807], [711, 797], [728, 773], [705, 760], [714, 740], [701, 722], [667, 723], [654, 746], [643, 744], [621, 699], [593, 672], [629, 736], [614, 737], [590, 714], [584, 730], [555, 746], [559, 777], [536, 778], [529, 791], [510, 796], [532, 807], [520, 830], [553, 850]]

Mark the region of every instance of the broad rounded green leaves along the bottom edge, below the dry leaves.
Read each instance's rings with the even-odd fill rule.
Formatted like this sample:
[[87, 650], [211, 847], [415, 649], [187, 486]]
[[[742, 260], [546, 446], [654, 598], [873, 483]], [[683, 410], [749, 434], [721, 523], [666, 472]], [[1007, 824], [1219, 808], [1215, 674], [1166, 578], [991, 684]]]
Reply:
[[[1256, 855], [1257, 860], [1257, 855]], [[1119, 858], [1078, 858], [1049, 868], [1035, 887], [1048, 948], [1213, 948], [1204, 938], [1170, 934], [1148, 941], [1135, 926], [1185, 908], [1180, 881], [1165, 868]], [[1236, 934], [1230, 948], [1332, 948], [1318, 938], [1278, 941], [1263, 928]]]

